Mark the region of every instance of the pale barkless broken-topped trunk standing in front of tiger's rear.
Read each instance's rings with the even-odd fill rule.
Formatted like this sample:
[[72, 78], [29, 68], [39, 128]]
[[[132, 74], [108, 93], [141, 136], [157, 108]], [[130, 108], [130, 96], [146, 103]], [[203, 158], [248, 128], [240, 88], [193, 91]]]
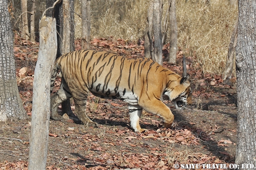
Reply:
[[33, 84], [29, 170], [46, 169], [50, 118], [50, 80], [52, 65], [57, 53], [55, 19], [44, 17], [39, 24], [40, 46]]

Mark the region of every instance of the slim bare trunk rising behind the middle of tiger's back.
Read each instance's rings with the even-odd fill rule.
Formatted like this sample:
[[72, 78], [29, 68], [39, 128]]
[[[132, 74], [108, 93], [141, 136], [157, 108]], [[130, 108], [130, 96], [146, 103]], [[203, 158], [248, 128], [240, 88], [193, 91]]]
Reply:
[[81, 15], [82, 15], [82, 34], [81, 47], [88, 49], [90, 47], [90, 0], [81, 1]]

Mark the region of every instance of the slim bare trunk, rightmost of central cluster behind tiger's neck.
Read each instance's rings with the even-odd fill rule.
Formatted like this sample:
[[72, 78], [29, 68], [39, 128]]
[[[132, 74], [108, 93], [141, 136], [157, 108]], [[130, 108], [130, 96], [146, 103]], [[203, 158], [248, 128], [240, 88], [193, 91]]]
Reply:
[[168, 63], [176, 63], [176, 52], [177, 52], [177, 20], [176, 20], [176, 0], [171, 0], [171, 6], [169, 11], [170, 18], [170, 48]]

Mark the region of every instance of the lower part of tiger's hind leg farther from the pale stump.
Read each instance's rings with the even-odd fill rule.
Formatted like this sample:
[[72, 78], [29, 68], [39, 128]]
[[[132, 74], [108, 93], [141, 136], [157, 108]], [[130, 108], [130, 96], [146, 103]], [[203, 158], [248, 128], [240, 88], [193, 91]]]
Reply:
[[75, 102], [75, 114], [84, 125], [98, 127], [99, 125], [96, 122], [91, 121], [86, 115], [87, 96], [88, 92], [84, 94], [73, 94], [73, 99]]

